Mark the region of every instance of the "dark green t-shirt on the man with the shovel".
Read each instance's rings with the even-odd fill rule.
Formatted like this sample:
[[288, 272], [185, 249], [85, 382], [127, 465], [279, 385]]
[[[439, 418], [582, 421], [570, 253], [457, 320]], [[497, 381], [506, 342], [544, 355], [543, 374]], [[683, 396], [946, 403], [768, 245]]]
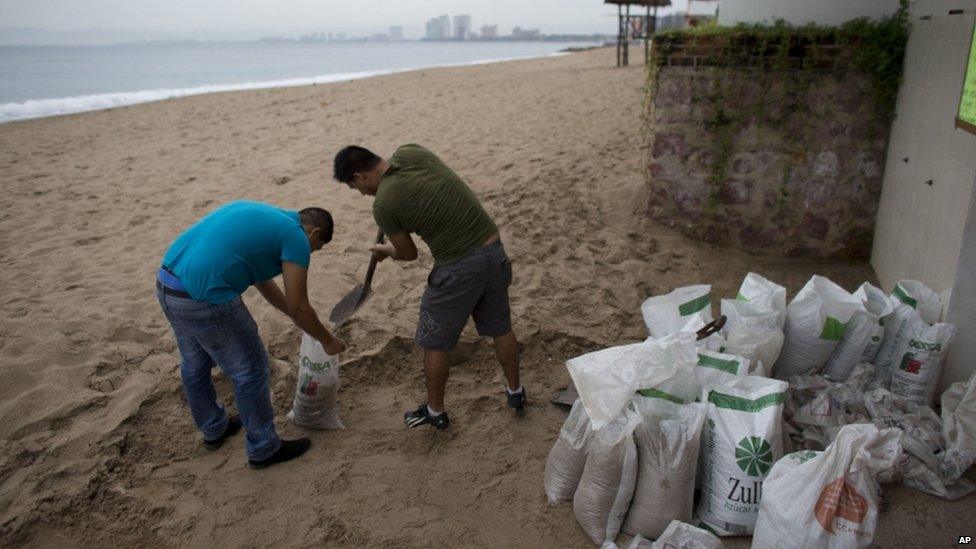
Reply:
[[417, 233], [435, 265], [462, 259], [498, 233], [471, 189], [440, 158], [420, 145], [390, 157], [373, 201], [376, 224], [388, 236]]

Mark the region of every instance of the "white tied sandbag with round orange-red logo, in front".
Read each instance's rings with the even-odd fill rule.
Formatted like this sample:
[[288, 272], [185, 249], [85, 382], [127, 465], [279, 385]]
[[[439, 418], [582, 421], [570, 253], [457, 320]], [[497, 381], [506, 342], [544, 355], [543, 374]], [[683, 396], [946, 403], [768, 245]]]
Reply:
[[870, 546], [881, 499], [874, 476], [898, 459], [899, 437], [897, 429], [848, 425], [823, 453], [777, 462], [763, 486], [753, 549]]

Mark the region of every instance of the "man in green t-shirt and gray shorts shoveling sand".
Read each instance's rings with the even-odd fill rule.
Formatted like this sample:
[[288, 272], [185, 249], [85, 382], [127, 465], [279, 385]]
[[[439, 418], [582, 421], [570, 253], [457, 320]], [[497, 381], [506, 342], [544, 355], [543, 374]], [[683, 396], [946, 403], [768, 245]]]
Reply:
[[420, 145], [403, 145], [389, 159], [349, 146], [335, 157], [336, 180], [373, 200], [373, 217], [389, 242], [372, 248], [380, 261], [417, 259], [416, 233], [430, 247], [434, 268], [420, 301], [415, 341], [424, 349], [427, 402], [404, 414], [409, 427], [446, 429], [447, 355], [469, 317], [478, 333], [494, 338], [505, 373], [508, 405], [525, 406], [519, 383], [518, 341], [512, 332], [508, 286], [512, 267], [498, 227], [454, 171]]

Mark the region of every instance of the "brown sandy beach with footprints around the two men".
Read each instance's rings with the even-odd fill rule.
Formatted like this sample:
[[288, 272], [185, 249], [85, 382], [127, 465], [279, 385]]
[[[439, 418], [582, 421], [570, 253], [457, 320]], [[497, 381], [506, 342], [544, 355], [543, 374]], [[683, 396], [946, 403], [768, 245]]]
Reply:
[[[814, 273], [848, 289], [875, 278], [865, 264], [749, 256], [647, 222], [643, 71], [612, 63], [596, 50], [0, 126], [0, 545], [589, 546], [571, 505], [547, 506], [542, 490], [565, 359], [641, 339], [640, 302], [675, 286], [711, 282], [727, 297], [755, 270], [792, 295]], [[260, 472], [245, 467], [241, 437], [205, 452], [153, 293], [168, 243], [233, 199], [327, 207], [336, 238], [310, 283], [327, 314], [362, 277], [374, 235], [369, 199], [331, 181], [332, 155], [405, 142], [438, 152], [501, 228], [526, 413], [504, 407], [491, 349], [467, 332], [452, 428], [404, 428], [424, 394], [410, 340], [424, 249], [382, 264], [374, 298], [341, 331], [341, 432], [284, 420], [299, 332], [249, 292], [280, 431], [313, 448]], [[218, 392], [231, 404], [219, 375]], [[889, 488], [882, 546], [972, 533], [973, 499]]]

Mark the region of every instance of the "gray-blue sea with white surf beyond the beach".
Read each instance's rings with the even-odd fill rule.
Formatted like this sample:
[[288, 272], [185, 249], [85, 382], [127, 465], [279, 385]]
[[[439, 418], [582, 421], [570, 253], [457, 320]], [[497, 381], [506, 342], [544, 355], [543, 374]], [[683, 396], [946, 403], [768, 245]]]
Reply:
[[221, 91], [559, 55], [558, 42], [0, 47], [0, 123]]

